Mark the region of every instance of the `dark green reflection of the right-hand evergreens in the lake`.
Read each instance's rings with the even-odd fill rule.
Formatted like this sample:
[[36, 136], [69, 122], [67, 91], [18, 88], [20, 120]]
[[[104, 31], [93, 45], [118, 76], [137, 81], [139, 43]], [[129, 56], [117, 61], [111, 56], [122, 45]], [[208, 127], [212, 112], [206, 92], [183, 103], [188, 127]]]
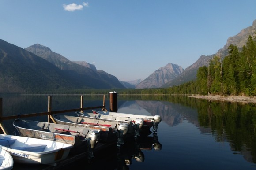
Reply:
[[198, 108], [200, 126], [210, 127], [216, 141], [226, 138], [233, 151], [256, 163], [255, 104], [202, 100]]

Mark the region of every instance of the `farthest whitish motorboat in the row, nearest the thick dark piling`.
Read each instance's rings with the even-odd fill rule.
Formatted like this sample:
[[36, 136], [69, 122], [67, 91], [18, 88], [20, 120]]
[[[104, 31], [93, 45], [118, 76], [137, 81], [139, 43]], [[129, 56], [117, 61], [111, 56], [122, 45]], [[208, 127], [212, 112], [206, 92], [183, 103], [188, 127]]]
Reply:
[[150, 129], [153, 126], [153, 132], [157, 132], [158, 124], [161, 122], [160, 115], [154, 116], [146, 116], [146, 115], [135, 115], [128, 113], [118, 113], [118, 112], [110, 112], [110, 111], [94, 111], [94, 114], [104, 115], [105, 118], [125, 118], [132, 122], [137, 122], [136, 124], [139, 126], [139, 130], [143, 131], [145, 129]]

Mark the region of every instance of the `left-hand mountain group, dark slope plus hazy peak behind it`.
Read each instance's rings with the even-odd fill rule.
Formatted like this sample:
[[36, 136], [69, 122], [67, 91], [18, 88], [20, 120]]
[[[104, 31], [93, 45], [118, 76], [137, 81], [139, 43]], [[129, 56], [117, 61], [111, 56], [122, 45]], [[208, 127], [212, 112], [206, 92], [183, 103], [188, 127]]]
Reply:
[[125, 88], [115, 76], [82, 64], [40, 44], [23, 49], [0, 40], [0, 93]]

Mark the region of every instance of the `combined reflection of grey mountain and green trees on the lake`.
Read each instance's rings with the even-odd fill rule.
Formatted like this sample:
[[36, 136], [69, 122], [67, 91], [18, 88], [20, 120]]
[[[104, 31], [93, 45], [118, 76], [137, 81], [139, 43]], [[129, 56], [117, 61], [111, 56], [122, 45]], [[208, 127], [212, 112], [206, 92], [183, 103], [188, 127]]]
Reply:
[[154, 96], [155, 100], [150, 100], [150, 96], [141, 98], [136, 104], [151, 115], [160, 115], [168, 125], [187, 119], [202, 133], [211, 133], [217, 142], [228, 141], [232, 151], [244, 155], [248, 162], [256, 163], [255, 104], [211, 102], [187, 96]]

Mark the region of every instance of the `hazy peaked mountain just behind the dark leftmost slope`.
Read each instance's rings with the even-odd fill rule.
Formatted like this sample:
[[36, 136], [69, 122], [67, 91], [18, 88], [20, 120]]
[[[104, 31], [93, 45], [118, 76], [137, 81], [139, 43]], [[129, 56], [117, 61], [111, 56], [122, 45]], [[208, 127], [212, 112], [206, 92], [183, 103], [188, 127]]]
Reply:
[[90, 67], [86, 67], [84, 66], [85, 62], [72, 62], [64, 56], [52, 52], [50, 48], [43, 45], [34, 44], [25, 49], [49, 61], [60, 70], [63, 70], [65, 74], [69, 75], [73, 79], [74, 83], [79, 85], [81, 88], [125, 88], [115, 76], [108, 74], [105, 71], [96, 70], [96, 67], [93, 65], [88, 64], [87, 66]]

